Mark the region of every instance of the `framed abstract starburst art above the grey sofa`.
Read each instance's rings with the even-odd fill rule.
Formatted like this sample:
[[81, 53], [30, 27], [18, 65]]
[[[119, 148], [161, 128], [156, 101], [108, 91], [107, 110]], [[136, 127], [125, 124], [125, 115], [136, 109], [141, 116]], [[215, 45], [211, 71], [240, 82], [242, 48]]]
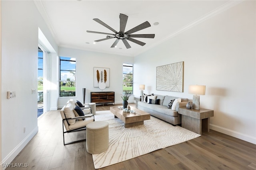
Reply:
[[156, 90], [183, 92], [183, 61], [156, 67]]

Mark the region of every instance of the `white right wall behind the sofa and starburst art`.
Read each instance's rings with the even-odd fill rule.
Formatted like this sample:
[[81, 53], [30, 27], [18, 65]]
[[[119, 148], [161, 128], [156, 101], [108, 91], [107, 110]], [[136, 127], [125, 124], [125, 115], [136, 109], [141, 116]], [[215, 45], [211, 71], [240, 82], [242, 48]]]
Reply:
[[[256, 2], [242, 2], [134, 59], [134, 89], [189, 98], [188, 86], [206, 85], [202, 108], [210, 128], [256, 144]], [[184, 92], [156, 90], [156, 67], [184, 61]], [[140, 96], [140, 90], [134, 90]]]

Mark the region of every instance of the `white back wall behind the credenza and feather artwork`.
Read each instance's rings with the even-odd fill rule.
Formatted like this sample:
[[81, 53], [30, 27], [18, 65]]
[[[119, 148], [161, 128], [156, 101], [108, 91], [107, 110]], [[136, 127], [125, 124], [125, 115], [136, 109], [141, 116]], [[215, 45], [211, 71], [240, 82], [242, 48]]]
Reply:
[[[134, 57], [125, 57], [120, 55], [111, 55], [78, 49], [59, 48], [59, 55], [62, 57], [76, 58], [76, 98], [83, 102], [82, 88], [86, 88], [85, 102], [90, 102], [90, 92], [115, 92], [115, 104], [122, 103], [122, 84], [123, 84], [123, 63], [134, 63]], [[93, 87], [93, 68], [110, 68], [110, 87], [104, 90]], [[63, 107], [68, 98], [59, 98], [58, 107]], [[128, 102], [133, 102], [131, 97]]]

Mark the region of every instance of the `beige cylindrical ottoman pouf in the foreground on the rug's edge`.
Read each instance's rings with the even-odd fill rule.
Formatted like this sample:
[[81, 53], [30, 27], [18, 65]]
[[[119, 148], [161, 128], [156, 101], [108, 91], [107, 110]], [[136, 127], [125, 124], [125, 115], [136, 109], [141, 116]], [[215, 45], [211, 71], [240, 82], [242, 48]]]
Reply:
[[108, 149], [108, 122], [94, 121], [86, 125], [86, 150], [99, 154]]

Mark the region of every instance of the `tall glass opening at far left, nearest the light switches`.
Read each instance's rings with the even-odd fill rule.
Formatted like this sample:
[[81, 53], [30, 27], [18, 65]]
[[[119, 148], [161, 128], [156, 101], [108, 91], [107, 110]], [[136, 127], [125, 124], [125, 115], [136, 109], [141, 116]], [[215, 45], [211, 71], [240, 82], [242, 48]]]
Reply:
[[37, 92], [38, 92], [38, 103], [43, 102], [43, 65], [44, 52], [38, 47], [38, 71], [37, 71]]

